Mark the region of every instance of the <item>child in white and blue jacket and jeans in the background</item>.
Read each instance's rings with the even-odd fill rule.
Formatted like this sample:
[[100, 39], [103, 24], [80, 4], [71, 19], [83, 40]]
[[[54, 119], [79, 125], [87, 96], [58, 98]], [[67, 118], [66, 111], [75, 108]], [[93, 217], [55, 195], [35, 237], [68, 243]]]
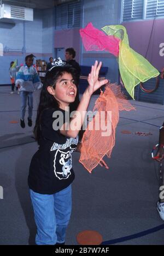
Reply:
[[[21, 66], [16, 76], [16, 87], [21, 97], [20, 125], [25, 128], [26, 104], [28, 102], [28, 126], [32, 126], [33, 92], [42, 87], [36, 68], [33, 66], [33, 54], [27, 55], [25, 65]], [[28, 100], [28, 101], [27, 101]]]

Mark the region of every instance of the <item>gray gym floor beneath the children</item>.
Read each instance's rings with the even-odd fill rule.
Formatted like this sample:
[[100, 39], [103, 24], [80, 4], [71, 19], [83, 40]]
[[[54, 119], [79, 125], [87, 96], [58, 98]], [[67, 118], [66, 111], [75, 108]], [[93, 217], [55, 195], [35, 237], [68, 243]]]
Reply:
[[[20, 96], [9, 92], [9, 87], [0, 87], [0, 186], [3, 187], [0, 244], [33, 244], [36, 227], [27, 176], [38, 146], [31, 127], [20, 127]], [[92, 97], [89, 109], [96, 98]], [[33, 123], [38, 101], [39, 92], [35, 92]], [[156, 211], [159, 166], [151, 160], [150, 154], [158, 142], [164, 107], [136, 101], [131, 103], [136, 111], [120, 112], [112, 157], [105, 158], [109, 170], [98, 166], [90, 174], [79, 163], [79, 153], [73, 155], [76, 178], [66, 244], [78, 244], [76, 236], [83, 230], [98, 231], [107, 244], [164, 243], [164, 223]], [[11, 124], [10, 121], [18, 123]], [[124, 134], [122, 130], [131, 131], [131, 134]], [[134, 133], [136, 131], [153, 135], [138, 136]]]

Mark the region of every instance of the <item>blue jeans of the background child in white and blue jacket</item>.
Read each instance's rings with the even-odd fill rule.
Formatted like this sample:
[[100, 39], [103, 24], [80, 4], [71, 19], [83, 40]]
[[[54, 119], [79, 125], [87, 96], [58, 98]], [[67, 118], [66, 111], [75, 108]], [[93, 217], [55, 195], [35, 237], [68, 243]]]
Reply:
[[20, 92], [21, 97], [21, 119], [25, 119], [26, 104], [28, 100], [28, 118], [32, 119], [32, 109], [33, 109], [33, 92]]

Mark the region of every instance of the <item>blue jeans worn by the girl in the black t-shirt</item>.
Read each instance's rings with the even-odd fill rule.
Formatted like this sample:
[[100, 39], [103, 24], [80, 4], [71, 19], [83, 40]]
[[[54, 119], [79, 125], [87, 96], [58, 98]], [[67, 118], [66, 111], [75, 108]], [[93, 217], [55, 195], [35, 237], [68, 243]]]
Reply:
[[55, 194], [39, 194], [30, 190], [37, 225], [36, 244], [65, 242], [72, 209], [72, 187]]

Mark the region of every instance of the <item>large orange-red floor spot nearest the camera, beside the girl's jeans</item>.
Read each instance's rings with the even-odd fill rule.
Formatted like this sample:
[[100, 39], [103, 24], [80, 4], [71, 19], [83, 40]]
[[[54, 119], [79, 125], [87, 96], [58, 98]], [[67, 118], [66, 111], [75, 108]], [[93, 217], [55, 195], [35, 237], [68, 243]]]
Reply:
[[94, 230], [84, 230], [77, 235], [77, 242], [81, 245], [96, 245], [101, 244], [102, 241], [102, 235]]

